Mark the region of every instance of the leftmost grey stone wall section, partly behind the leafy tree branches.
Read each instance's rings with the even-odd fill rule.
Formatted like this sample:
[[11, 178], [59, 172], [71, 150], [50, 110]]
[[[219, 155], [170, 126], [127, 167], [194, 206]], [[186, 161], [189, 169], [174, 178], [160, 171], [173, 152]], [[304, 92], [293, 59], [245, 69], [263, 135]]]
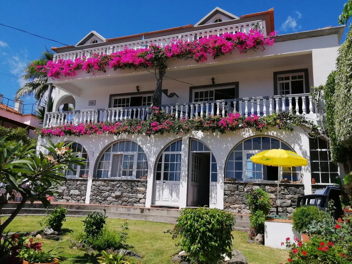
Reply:
[[87, 179], [67, 179], [64, 186], [57, 188], [55, 202], [84, 203], [86, 201]]

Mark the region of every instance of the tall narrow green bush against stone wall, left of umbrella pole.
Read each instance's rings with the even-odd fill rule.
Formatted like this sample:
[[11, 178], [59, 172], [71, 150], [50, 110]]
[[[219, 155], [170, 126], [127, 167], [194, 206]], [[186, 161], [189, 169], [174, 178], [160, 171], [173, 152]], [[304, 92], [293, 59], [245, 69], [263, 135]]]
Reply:
[[263, 189], [255, 189], [250, 194], [246, 195], [249, 209], [251, 210], [251, 228], [254, 230], [254, 235], [264, 233], [264, 222], [266, 216], [270, 213], [270, 197]]

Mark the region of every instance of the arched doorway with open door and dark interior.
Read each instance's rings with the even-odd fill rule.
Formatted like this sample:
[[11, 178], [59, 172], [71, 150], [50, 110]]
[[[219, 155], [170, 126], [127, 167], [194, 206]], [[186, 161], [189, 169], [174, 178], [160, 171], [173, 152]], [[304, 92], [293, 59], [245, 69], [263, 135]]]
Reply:
[[188, 206], [216, 205], [218, 166], [209, 147], [196, 139], [190, 141]]

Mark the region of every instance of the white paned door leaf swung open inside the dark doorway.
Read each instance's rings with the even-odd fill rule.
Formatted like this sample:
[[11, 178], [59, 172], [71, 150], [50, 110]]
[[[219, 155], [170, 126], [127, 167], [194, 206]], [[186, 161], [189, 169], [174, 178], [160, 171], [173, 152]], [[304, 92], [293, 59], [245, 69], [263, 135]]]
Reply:
[[189, 206], [198, 206], [198, 183], [199, 183], [200, 157], [191, 153], [190, 175], [189, 175]]

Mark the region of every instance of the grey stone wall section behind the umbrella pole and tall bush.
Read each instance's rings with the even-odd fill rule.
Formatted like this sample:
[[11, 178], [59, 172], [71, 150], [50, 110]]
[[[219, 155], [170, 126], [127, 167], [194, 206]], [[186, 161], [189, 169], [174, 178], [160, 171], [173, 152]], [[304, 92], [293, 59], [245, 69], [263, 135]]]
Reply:
[[[270, 214], [276, 213], [277, 184], [224, 182], [224, 209], [231, 213], [250, 214], [246, 195], [262, 188], [271, 199]], [[290, 216], [296, 208], [298, 196], [304, 195], [303, 184], [281, 183], [279, 190], [279, 215]]]

